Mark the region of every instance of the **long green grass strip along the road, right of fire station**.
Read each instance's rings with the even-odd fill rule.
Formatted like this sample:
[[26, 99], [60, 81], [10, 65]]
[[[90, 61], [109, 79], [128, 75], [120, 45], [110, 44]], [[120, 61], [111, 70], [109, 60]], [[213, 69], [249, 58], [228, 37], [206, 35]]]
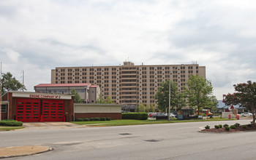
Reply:
[[126, 125], [138, 125], [138, 124], [168, 124], [168, 123], [182, 123], [182, 122], [195, 122], [195, 121], [228, 121], [235, 119], [191, 119], [191, 120], [177, 120], [172, 118], [171, 121], [167, 120], [133, 120], [133, 119], [121, 119], [111, 121], [71, 121], [74, 124], [89, 125], [89, 126], [126, 126]]

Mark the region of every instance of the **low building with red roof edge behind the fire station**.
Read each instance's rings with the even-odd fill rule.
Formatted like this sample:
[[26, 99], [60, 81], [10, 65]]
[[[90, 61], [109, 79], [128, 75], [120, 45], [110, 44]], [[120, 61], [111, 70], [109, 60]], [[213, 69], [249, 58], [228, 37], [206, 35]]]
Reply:
[[35, 92], [70, 94], [72, 89], [80, 95], [84, 103], [95, 103], [99, 98], [100, 89], [97, 85], [83, 84], [38, 84], [34, 87]]

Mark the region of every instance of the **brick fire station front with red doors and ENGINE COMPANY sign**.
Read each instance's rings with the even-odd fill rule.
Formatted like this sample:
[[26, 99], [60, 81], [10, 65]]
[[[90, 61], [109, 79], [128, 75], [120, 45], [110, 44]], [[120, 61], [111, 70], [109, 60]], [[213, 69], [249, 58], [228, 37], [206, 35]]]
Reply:
[[73, 116], [73, 95], [7, 92], [2, 96], [1, 119], [72, 121]]

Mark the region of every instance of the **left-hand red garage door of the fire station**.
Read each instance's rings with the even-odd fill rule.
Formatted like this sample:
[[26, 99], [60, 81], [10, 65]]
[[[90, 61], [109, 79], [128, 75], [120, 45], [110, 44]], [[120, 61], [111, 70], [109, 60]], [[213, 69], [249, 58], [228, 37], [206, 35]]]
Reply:
[[40, 100], [18, 99], [16, 106], [18, 121], [39, 121]]

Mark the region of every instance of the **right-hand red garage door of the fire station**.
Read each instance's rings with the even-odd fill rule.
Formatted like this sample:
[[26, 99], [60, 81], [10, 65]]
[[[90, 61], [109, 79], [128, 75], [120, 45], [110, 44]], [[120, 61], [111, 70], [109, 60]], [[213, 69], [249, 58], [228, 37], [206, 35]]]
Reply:
[[64, 100], [42, 100], [43, 121], [64, 121]]

